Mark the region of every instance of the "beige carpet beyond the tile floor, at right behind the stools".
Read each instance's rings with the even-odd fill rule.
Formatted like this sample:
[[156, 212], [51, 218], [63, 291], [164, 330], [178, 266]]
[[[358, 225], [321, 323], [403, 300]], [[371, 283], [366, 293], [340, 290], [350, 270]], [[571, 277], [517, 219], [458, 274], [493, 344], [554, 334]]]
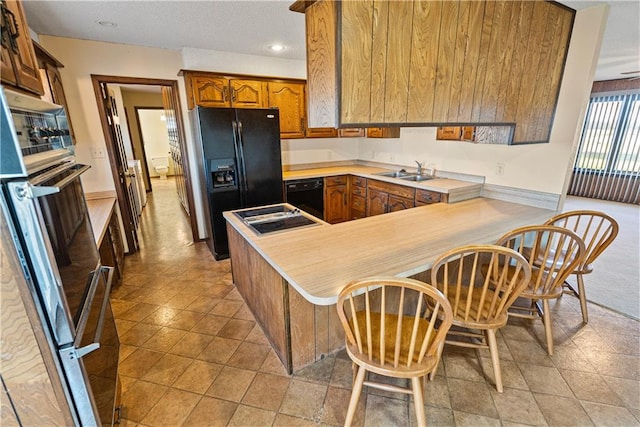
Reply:
[[[567, 197], [563, 211], [593, 209], [618, 221], [620, 231], [611, 246], [584, 277], [587, 300], [640, 319], [640, 206], [584, 197]], [[570, 279], [575, 284], [575, 276]]]

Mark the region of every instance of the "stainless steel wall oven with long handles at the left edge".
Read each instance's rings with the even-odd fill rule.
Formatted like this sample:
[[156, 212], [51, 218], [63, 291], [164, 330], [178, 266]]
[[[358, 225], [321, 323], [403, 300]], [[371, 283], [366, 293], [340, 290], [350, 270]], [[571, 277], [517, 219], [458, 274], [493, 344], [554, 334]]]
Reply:
[[89, 166], [76, 163], [59, 107], [5, 92], [11, 110], [1, 97], [2, 213], [75, 421], [112, 425], [119, 353], [113, 270], [100, 264], [87, 211], [80, 176]]

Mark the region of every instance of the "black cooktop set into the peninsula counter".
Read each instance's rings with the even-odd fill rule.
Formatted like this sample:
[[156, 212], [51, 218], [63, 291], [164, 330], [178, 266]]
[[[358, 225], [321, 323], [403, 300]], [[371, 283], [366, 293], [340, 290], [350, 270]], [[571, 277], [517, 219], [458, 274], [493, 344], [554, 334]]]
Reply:
[[235, 214], [258, 234], [273, 233], [318, 224], [304, 216], [297, 208], [275, 205], [265, 208], [247, 209]]

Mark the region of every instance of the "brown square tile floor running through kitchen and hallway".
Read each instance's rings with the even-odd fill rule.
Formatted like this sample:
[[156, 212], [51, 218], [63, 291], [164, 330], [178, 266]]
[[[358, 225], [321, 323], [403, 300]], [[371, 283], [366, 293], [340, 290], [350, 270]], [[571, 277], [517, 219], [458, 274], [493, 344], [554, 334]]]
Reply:
[[[351, 388], [344, 353], [289, 376], [232, 284], [229, 261], [191, 243], [172, 180], [153, 181], [141, 249], [112, 305], [121, 341], [124, 426], [342, 425]], [[446, 426], [640, 425], [640, 322], [575, 298], [553, 305], [556, 354], [542, 324], [499, 336], [505, 391], [486, 351], [445, 347], [425, 386], [427, 423]], [[415, 425], [403, 395], [362, 395], [356, 425]]]

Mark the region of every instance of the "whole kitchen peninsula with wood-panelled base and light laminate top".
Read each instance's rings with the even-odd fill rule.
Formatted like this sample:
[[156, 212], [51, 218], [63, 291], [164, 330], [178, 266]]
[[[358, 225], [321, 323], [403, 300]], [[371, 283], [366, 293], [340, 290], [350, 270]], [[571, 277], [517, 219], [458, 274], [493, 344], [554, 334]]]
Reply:
[[233, 281], [293, 372], [344, 346], [335, 303], [348, 282], [376, 275], [425, 280], [446, 250], [492, 243], [554, 213], [474, 198], [264, 235], [232, 212], [224, 216]]

